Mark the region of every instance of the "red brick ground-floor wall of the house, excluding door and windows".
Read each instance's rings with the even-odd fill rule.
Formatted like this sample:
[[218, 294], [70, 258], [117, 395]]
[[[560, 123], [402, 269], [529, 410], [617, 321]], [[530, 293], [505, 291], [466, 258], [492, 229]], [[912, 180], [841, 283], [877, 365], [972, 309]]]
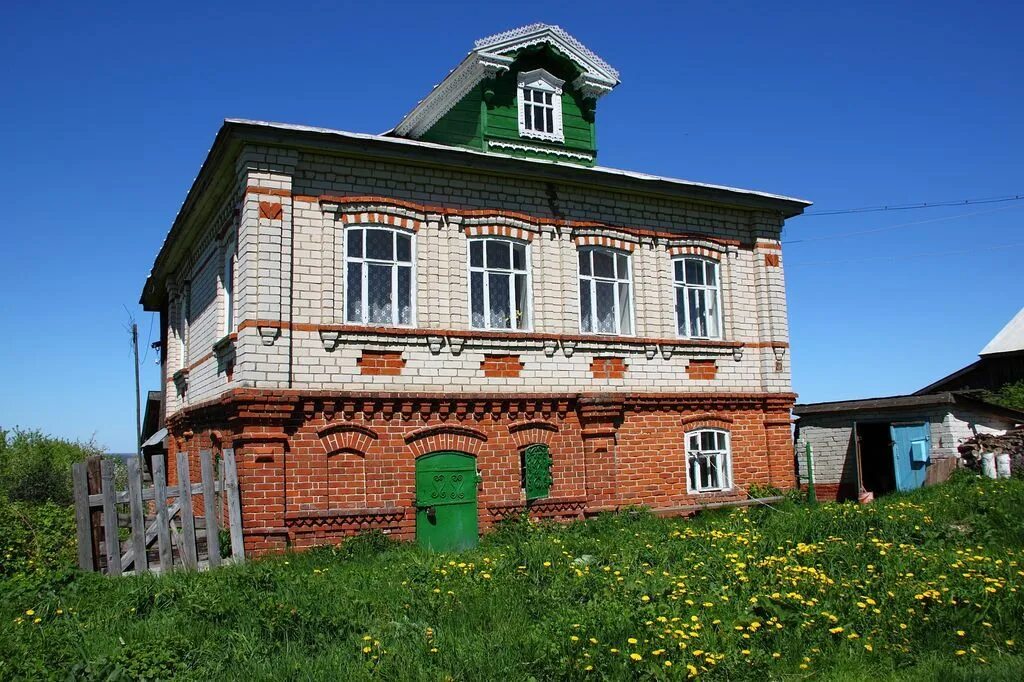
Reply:
[[[378, 528], [416, 535], [416, 458], [476, 457], [479, 526], [526, 509], [519, 453], [552, 455], [535, 517], [583, 518], [629, 505], [671, 510], [796, 484], [792, 394], [343, 395], [237, 389], [172, 416], [171, 456], [233, 446], [247, 552], [337, 542]], [[688, 495], [685, 433], [730, 432], [733, 489]]]

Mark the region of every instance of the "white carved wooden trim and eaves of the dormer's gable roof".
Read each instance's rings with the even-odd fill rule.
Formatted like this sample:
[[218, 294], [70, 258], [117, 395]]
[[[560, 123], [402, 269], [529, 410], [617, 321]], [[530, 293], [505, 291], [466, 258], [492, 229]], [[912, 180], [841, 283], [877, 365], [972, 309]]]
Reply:
[[509, 53], [548, 43], [573, 61], [583, 73], [572, 84], [586, 97], [598, 98], [618, 85], [618, 72], [587, 49], [583, 43], [557, 26], [531, 24], [476, 41], [466, 55], [438, 85], [394, 128], [394, 134], [418, 139], [452, 111], [459, 101], [485, 78], [507, 71], [513, 58]]

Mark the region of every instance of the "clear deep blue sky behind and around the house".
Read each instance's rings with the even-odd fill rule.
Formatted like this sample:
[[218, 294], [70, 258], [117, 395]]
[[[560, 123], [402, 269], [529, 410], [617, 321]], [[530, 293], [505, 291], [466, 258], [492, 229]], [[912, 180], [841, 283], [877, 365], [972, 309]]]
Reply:
[[[134, 449], [123, 306], [159, 338], [139, 292], [223, 118], [381, 132], [474, 39], [532, 22], [622, 72], [602, 165], [819, 210], [1024, 193], [1018, 3], [831, 4], [3, 3], [0, 425]], [[970, 363], [1024, 304], [1022, 221], [1024, 202], [792, 220], [801, 399]]]

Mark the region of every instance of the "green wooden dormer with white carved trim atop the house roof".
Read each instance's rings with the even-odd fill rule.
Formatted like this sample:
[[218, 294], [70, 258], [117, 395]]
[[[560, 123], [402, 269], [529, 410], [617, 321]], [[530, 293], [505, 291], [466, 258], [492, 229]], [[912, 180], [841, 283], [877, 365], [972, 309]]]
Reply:
[[597, 100], [616, 85], [618, 72], [575, 38], [532, 24], [476, 41], [391, 134], [593, 166]]

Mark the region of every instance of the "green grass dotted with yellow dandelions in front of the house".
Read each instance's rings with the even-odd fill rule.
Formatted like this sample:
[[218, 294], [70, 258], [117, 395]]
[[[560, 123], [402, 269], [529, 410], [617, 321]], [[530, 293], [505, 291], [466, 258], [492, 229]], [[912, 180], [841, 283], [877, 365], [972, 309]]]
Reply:
[[[0, 583], [0, 678], [1024, 678], [1024, 481]], [[121, 676], [119, 678], [119, 676]]]

